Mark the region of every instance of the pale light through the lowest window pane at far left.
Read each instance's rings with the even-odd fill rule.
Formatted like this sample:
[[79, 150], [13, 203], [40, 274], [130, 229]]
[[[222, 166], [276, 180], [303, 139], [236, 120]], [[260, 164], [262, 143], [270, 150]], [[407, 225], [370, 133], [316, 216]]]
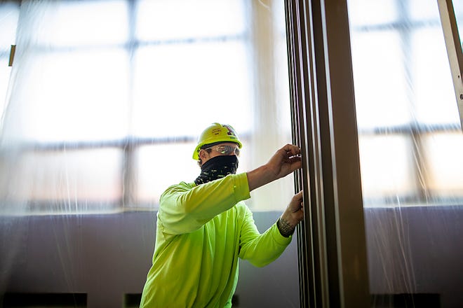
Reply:
[[19, 155], [11, 172], [11, 202], [64, 200], [77, 204], [121, 198], [121, 152], [114, 148], [36, 151]]

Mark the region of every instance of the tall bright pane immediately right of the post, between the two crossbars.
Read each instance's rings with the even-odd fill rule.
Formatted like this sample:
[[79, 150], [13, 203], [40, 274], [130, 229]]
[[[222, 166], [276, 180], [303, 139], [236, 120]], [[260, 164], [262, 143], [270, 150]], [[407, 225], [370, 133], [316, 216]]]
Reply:
[[354, 37], [352, 62], [358, 127], [409, 123], [408, 80], [403, 74], [403, 51], [398, 33], [362, 31]]

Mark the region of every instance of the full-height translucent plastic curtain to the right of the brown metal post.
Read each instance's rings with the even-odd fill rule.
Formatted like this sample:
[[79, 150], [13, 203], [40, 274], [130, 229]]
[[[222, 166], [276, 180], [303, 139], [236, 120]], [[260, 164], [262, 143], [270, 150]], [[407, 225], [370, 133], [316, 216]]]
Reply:
[[461, 307], [463, 134], [437, 2], [348, 3], [372, 307]]

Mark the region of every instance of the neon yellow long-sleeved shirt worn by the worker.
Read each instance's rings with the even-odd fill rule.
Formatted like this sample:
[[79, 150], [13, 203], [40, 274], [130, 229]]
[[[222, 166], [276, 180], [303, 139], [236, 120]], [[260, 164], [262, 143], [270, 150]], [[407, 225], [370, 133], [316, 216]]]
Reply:
[[291, 241], [276, 223], [260, 234], [243, 202], [249, 197], [246, 173], [200, 186], [182, 182], [161, 195], [140, 307], [231, 307], [238, 258], [262, 267]]

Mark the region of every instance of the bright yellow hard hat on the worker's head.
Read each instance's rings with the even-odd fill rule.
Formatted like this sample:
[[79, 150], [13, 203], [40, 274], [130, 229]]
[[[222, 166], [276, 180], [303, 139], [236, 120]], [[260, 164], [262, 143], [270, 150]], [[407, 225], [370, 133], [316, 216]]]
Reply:
[[235, 144], [238, 144], [239, 148], [243, 146], [231, 125], [213, 123], [213, 125], [210, 125], [206, 128], [206, 130], [203, 130], [199, 136], [198, 145], [193, 152], [193, 159], [199, 159], [199, 151], [202, 146], [205, 146], [206, 144], [215, 144], [217, 142], [234, 142]]

